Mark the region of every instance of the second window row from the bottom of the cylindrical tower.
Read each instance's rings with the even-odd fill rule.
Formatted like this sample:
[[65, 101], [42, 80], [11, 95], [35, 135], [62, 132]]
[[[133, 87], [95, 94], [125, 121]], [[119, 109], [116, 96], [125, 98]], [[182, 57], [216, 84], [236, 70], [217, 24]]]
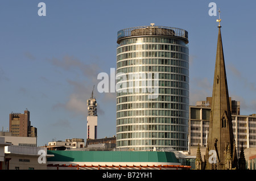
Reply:
[[185, 139], [184, 133], [179, 132], [126, 132], [118, 133], [117, 139], [126, 138], [181, 138]]

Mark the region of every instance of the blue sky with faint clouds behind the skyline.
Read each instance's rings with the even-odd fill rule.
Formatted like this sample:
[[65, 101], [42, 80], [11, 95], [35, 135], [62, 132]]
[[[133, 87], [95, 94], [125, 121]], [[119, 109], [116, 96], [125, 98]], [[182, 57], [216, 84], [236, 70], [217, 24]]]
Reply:
[[[46, 16], [39, 16], [39, 2]], [[0, 128], [9, 114], [31, 113], [38, 146], [52, 139], [86, 139], [86, 100], [95, 85], [98, 138], [116, 133], [115, 94], [97, 91], [98, 73], [116, 69], [117, 32], [124, 28], [183, 28], [189, 37], [190, 104], [212, 96], [221, 10], [229, 95], [241, 115], [256, 113], [255, 1], [82, 1], [2, 0], [0, 2]]]

